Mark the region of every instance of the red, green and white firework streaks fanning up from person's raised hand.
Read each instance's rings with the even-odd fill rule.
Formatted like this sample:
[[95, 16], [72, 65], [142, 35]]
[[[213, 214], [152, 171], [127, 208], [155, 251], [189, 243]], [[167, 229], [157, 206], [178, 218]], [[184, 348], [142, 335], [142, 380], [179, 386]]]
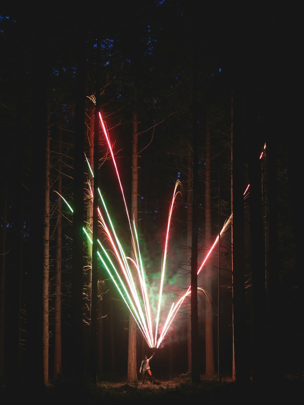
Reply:
[[[124, 207], [126, 210], [126, 216], [128, 219], [129, 229], [131, 232], [131, 241], [132, 241], [132, 254], [133, 257], [127, 256], [124, 253], [122, 244], [116, 234], [115, 228], [113, 226], [113, 222], [109, 215], [109, 211], [105, 204], [105, 200], [101, 194], [100, 189], [98, 188], [98, 194], [100, 196], [101, 207], [98, 207], [98, 215], [99, 215], [99, 223], [101, 224], [101, 228], [103, 234], [105, 235], [104, 241], [106, 241], [107, 245], [104, 245], [98, 240], [98, 244], [100, 245], [100, 249], [98, 250], [97, 254], [103, 264], [105, 270], [109, 274], [110, 278], [112, 279], [114, 285], [116, 286], [119, 294], [121, 295], [123, 301], [125, 302], [126, 306], [130, 310], [131, 315], [135, 319], [139, 330], [141, 331], [143, 337], [145, 338], [146, 342], [148, 343], [149, 347], [158, 348], [166, 333], [169, 329], [173, 319], [175, 318], [176, 314], [178, 313], [181, 305], [183, 304], [184, 300], [186, 299], [189, 294], [191, 294], [191, 286], [188, 287], [186, 293], [177, 301], [177, 303], [172, 303], [169, 312], [167, 313], [167, 318], [165, 318], [165, 323], [162, 327], [162, 330], [159, 329], [159, 320], [160, 315], [166, 317], [164, 313], [165, 310], [162, 306], [162, 294], [163, 294], [163, 284], [165, 280], [165, 267], [166, 267], [166, 258], [167, 258], [167, 249], [168, 249], [168, 242], [169, 242], [169, 233], [170, 233], [170, 224], [172, 219], [172, 213], [175, 206], [175, 199], [176, 196], [180, 193], [178, 188], [180, 187], [180, 181], [176, 181], [176, 185], [173, 191], [173, 197], [169, 207], [169, 215], [168, 215], [168, 222], [167, 222], [167, 233], [165, 238], [165, 247], [163, 250], [163, 258], [161, 262], [161, 281], [159, 286], [159, 294], [158, 294], [158, 306], [157, 306], [157, 313], [152, 314], [150, 301], [149, 301], [149, 294], [147, 290], [147, 283], [146, 283], [146, 274], [143, 269], [142, 265], [142, 258], [139, 248], [138, 242], [138, 235], [137, 235], [137, 227], [134, 222], [134, 219], [131, 220], [128, 208], [126, 204], [126, 199], [124, 196], [122, 183], [120, 181], [120, 176], [118, 173], [118, 169], [116, 166], [116, 161], [113, 154], [112, 145], [109, 139], [109, 134], [107, 132], [105, 123], [99, 113], [99, 118], [101, 122], [101, 126], [103, 128], [103, 134], [107, 141], [107, 145], [109, 147], [109, 151], [111, 153], [111, 158], [113, 161], [113, 165], [116, 171], [117, 179], [120, 185], [120, 190], [122, 194], [122, 198], [124, 201]], [[88, 160], [87, 160], [88, 162]], [[93, 175], [92, 168], [90, 167], [90, 163], [88, 162], [88, 166], [90, 168], [90, 172]], [[91, 196], [93, 198], [93, 191], [89, 184], [89, 189]], [[61, 196], [62, 197], [62, 196]], [[63, 198], [63, 197], [62, 197]], [[64, 200], [64, 198], [63, 198]], [[64, 200], [66, 202], [66, 200]], [[73, 212], [70, 205], [66, 202], [71, 212]], [[232, 215], [228, 218], [225, 222], [220, 236], [227, 230], [228, 226], [231, 223]], [[86, 230], [83, 228], [84, 232], [86, 233], [88, 240], [92, 243], [91, 238], [91, 231]], [[204, 260], [201, 262], [199, 266], [199, 270], [197, 274], [201, 272], [203, 266], [205, 265], [206, 261], [208, 260], [212, 250], [218, 243], [219, 236], [217, 236], [216, 240], [214, 241], [212, 247], [209, 249], [208, 253], [206, 254]], [[139, 288], [138, 288], [139, 286]], [[155, 323], [155, 329], [153, 324]]]

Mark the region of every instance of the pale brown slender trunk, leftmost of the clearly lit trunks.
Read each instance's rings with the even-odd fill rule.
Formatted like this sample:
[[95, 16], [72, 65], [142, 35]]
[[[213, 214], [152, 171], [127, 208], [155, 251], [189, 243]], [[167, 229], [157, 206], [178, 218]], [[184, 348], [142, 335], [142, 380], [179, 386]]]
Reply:
[[44, 260], [43, 260], [43, 371], [44, 384], [49, 385], [49, 114], [47, 115], [47, 139], [45, 148], [45, 186], [44, 186]]

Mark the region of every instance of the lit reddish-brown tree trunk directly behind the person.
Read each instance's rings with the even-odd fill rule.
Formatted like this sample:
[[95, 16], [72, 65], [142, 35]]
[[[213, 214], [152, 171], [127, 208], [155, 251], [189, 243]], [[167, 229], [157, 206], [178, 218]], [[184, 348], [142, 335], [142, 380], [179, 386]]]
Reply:
[[[131, 222], [135, 222], [137, 228], [137, 205], [138, 205], [138, 134], [137, 115], [133, 113], [133, 147], [132, 147], [132, 201], [131, 201]], [[128, 382], [137, 381], [136, 367], [136, 338], [137, 327], [133, 316], [129, 318], [129, 339], [128, 339]]]

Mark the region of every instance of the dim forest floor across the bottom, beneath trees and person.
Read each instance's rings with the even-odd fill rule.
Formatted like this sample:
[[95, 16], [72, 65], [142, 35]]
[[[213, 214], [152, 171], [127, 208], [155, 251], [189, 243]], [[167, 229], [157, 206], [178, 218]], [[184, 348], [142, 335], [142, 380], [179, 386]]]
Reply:
[[104, 404], [144, 404], [171, 405], [203, 403], [246, 404], [261, 403], [296, 404], [303, 397], [304, 375], [289, 375], [280, 380], [269, 379], [263, 384], [235, 383], [231, 377], [207, 379], [203, 375], [198, 384], [192, 384], [188, 375], [169, 380], [155, 380], [154, 384], [126, 384], [125, 382], [100, 382], [94, 386], [79, 388], [75, 384], [61, 383], [45, 388], [38, 393], [33, 386], [24, 391], [2, 390], [0, 403], [3, 405], [23, 402], [42, 403], [43, 405], [104, 405]]

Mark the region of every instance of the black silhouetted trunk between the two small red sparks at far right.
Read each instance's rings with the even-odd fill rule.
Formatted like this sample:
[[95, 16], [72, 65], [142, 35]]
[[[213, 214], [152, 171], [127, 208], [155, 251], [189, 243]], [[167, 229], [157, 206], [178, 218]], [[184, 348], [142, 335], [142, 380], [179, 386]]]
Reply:
[[[261, 161], [259, 156], [265, 139], [258, 129], [258, 104], [256, 79], [257, 64], [256, 53], [251, 49], [250, 60], [247, 69], [248, 78], [246, 80], [246, 139], [248, 145], [248, 175], [250, 183], [250, 241], [251, 241], [251, 262], [252, 262], [252, 283], [253, 283], [253, 378], [255, 382], [265, 382], [269, 379], [268, 358], [268, 328], [267, 328], [267, 299], [265, 284], [265, 238], [263, 228], [262, 193], [261, 193]], [[273, 122], [272, 122], [273, 125]], [[269, 133], [273, 128], [269, 128]], [[263, 142], [264, 141], [264, 142]], [[275, 176], [272, 179], [276, 184]], [[271, 182], [271, 183], [272, 183]], [[271, 213], [276, 212], [276, 205], [271, 205]], [[270, 214], [272, 215], [272, 214]], [[266, 215], [267, 217], [267, 215]], [[278, 257], [278, 252], [274, 252]], [[277, 262], [272, 270], [277, 269]], [[277, 303], [276, 303], [277, 304]], [[275, 304], [275, 312], [277, 305]], [[275, 319], [275, 314], [274, 314]], [[276, 336], [275, 341], [278, 339]], [[272, 345], [275, 343], [272, 342]], [[270, 348], [269, 348], [270, 349]], [[277, 352], [276, 356], [277, 358]], [[274, 359], [273, 359], [274, 360]], [[277, 367], [276, 367], [277, 369]]]

